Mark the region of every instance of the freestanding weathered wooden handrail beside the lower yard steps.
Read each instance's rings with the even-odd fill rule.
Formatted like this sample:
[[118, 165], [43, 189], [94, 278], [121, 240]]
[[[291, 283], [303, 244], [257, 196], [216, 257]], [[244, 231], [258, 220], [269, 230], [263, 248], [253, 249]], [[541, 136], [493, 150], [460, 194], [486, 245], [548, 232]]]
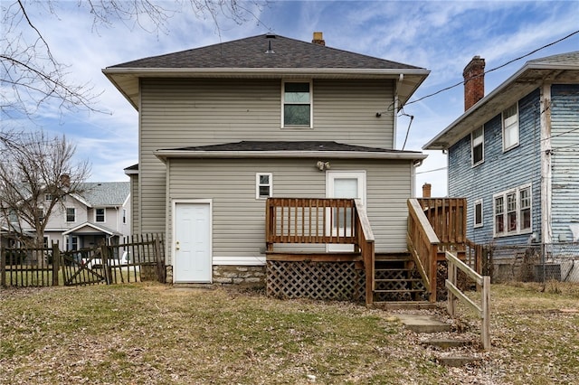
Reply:
[[[490, 277], [480, 276], [472, 268], [469, 268], [464, 262], [453, 255], [450, 251], [446, 252], [446, 260], [449, 263], [448, 279], [446, 280], [446, 288], [449, 290], [448, 296], [448, 312], [449, 315], [454, 316], [455, 300], [459, 299], [465, 305], [468, 305], [479, 315], [482, 320], [481, 324], [481, 340], [482, 346], [485, 350], [490, 350]], [[473, 279], [478, 286], [482, 288], [481, 305], [477, 305], [468, 296], [456, 286], [457, 268], [460, 268], [468, 277]]]

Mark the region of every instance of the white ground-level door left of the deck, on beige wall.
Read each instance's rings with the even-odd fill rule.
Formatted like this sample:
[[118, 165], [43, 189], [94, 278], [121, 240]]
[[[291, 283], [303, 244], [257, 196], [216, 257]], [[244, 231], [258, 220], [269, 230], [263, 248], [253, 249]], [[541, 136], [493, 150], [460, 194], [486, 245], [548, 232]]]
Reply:
[[210, 203], [176, 203], [174, 212], [174, 282], [210, 283], [212, 280]]

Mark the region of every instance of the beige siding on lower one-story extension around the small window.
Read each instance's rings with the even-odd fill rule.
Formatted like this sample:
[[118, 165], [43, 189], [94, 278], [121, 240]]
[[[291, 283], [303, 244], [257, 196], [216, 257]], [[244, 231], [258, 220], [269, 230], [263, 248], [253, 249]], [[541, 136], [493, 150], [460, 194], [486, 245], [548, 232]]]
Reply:
[[[316, 168], [317, 160], [172, 159], [169, 162], [169, 202], [212, 200], [214, 258], [263, 258], [265, 200], [255, 199], [255, 174], [272, 174], [274, 197], [323, 198], [326, 197], [326, 173]], [[332, 171], [365, 171], [366, 207], [376, 250], [405, 250], [411, 162], [328, 160]], [[167, 243], [171, 245], [171, 213], [167, 222]], [[304, 249], [302, 245], [298, 248]], [[171, 249], [168, 248], [169, 255]], [[322, 246], [318, 249], [324, 250]]]

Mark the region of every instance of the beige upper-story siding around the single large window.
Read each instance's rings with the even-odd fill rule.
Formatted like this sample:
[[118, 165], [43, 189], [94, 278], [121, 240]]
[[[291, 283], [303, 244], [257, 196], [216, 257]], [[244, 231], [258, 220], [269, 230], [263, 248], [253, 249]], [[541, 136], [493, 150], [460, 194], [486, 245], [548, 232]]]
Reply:
[[[314, 80], [313, 128], [281, 127], [281, 80], [141, 80], [139, 192], [143, 232], [165, 230], [166, 170], [157, 149], [242, 140], [334, 140], [391, 148], [390, 80]], [[384, 112], [376, 117], [376, 112]], [[389, 111], [389, 112], [388, 112]]]

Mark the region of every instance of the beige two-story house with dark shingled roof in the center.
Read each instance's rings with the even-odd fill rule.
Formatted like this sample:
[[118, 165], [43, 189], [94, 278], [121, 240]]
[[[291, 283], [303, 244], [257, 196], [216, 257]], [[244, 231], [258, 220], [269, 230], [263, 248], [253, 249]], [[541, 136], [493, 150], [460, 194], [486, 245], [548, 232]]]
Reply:
[[360, 198], [375, 249], [406, 251], [425, 155], [395, 149], [396, 113], [429, 71], [314, 36], [262, 34], [103, 70], [138, 110], [133, 232], [166, 232], [174, 282], [263, 269], [268, 197]]

